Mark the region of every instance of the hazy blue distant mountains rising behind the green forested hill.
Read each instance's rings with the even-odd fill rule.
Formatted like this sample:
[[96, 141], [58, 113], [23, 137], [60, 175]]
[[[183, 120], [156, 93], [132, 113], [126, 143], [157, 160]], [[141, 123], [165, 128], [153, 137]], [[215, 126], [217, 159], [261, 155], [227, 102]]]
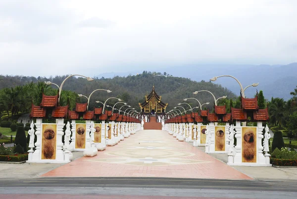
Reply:
[[[210, 78], [220, 75], [232, 75], [236, 77], [245, 88], [252, 83], [259, 83], [257, 87], [249, 87], [245, 94], [252, 98], [256, 90], [263, 91], [265, 99], [271, 97], [290, 99], [290, 92], [294, 91], [297, 86], [297, 63], [288, 65], [250, 65], [250, 64], [189, 64], [182, 66], [171, 66], [162, 69], [175, 77], [186, 77], [194, 81], [209, 81]], [[149, 70], [147, 70], [149, 71]], [[128, 76], [142, 73], [143, 71], [129, 71], [126, 73], [102, 73], [98, 77], [112, 78], [114, 76]], [[168, 77], [170, 78], [170, 77]], [[239, 84], [230, 77], [218, 78], [214, 83], [240, 95]]]

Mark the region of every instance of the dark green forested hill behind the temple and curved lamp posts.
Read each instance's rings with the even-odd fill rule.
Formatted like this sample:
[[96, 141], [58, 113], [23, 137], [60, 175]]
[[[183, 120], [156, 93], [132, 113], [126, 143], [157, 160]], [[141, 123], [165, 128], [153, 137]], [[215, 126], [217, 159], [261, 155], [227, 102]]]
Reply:
[[[90, 107], [98, 106], [95, 100], [104, 101], [108, 97], [119, 97], [126, 101], [128, 104], [133, 105], [139, 110], [138, 102], [145, 100], [147, 95], [154, 85], [155, 91], [159, 96], [162, 96], [162, 101], [168, 103], [167, 110], [177, 106], [177, 103], [183, 102], [185, 98], [195, 97], [201, 103], [210, 102], [209, 106], [213, 106], [213, 97], [206, 92], [194, 95], [193, 92], [199, 90], [208, 90], [214, 94], [216, 98], [228, 96], [228, 98], [236, 97], [231, 91], [221, 87], [217, 84], [205, 81], [191, 81], [188, 78], [170, 77], [170, 76], [156, 76], [155, 72], [144, 71], [142, 74], [127, 76], [127, 77], [114, 77], [109, 79], [96, 78], [92, 82], [88, 82], [85, 78], [69, 78], [63, 90], [71, 90], [77, 94], [89, 96], [90, 93], [96, 89], [109, 89], [112, 93], [103, 91], [93, 94], [90, 100]], [[0, 89], [11, 88], [15, 86], [26, 85], [30, 82], [37, 83], [38, 81], [51, 81], [57, 85], [65, 79], [66, 76], [56, 76], [54, 78], [45, 77], [22, 77], [22, 76], [0, 76]], [[52, 86], [56, 89], [55, 86]], [[81, 102], [85, 102], [85, 98], [79, 98]], [[196, 106], [196, 101], [187, 101]], [[186, 107], [186, 106], [185, 106]]]

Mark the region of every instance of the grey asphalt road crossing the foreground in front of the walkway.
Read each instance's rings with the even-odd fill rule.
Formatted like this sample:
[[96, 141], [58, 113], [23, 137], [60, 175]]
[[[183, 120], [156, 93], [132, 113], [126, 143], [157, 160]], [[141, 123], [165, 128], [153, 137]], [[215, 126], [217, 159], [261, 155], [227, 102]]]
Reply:
[[175, 196], [296, 199], [297, 182], [183, 178], [30, 178], [0, 179], [1, 195]]

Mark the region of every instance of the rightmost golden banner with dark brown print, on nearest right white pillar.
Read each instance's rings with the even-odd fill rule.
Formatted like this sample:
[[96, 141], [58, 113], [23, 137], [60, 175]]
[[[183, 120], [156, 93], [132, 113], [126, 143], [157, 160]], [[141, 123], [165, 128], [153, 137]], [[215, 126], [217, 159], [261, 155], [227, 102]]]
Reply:
[[257, 162], [257, 127], [242, 127], [243, 162]]

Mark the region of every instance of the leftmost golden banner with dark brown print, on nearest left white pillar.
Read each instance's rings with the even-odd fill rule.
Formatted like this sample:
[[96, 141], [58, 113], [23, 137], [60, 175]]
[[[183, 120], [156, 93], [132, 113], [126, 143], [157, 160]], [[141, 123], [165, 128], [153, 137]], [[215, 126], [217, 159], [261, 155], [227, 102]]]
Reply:
[[56, 124], [42, 125], [41, 159], [55, 159], [56, 153]]

